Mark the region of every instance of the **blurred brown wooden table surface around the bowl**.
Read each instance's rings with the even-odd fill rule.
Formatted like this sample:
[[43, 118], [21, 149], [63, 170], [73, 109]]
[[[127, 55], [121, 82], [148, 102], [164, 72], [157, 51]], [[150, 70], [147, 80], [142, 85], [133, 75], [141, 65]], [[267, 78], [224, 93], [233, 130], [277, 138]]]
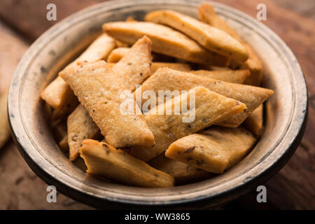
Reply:
[[[248, 193], [220, 209], [315, 209], [315, 1], [218, 0], [255, 18], [258, 3], [267, 6], [265, 25], [295, 53], [309, 88], [309, 121], [302, 143], [281, 171], [265, 183], [267, 203], [258, 204]], [[46, 6], [55, 3], [57, 22], [100, 0], [0, 1], [0, 91], [28, 46], [55, 24], [46, 20]], [[2, 119], [2, 118], [1, 118]], [[47, 184], [31, 171], [13, 141], [0, 151], [0, 209], [92, 209], [59, 194], [57, 203], [46, 201]]]

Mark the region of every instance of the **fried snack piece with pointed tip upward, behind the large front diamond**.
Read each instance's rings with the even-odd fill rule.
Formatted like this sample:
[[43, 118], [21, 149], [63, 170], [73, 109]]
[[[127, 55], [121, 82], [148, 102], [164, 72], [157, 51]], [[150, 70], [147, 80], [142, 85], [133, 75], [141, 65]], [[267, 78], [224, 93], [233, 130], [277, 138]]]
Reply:
[[113, 66], [113, 73], [124, 80], [127, 90], [134, 91], [151, 76], [151, 40], [144, 36]]

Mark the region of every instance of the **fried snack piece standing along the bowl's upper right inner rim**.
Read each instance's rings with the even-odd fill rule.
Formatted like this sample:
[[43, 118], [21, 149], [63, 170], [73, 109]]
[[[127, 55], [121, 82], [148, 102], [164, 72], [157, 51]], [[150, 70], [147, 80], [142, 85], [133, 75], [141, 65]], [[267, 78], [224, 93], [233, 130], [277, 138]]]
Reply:
[[224, 20], [220, 18], [218, 14], [216, 14], [214, 7], [211, 6], [209, 3], [202, 3], [199, 6], [198, 11], [199, 19], [202, 22], [206, 22], [213, 27], [227, 32], [228, 34], [230, 34], [230, 36], [237, 39], [240, 43], [244, 45], [248, 52], [248, 59], [244, 63], [232, 59], [230, 62], [230, 66], [232, 67], [232, 69], [249, 69], [249, 71], [251, 71], [251, 76], [249, 76], [245, 84], [260, 85], [260, 81], [262, 78], [262, 63], [260, 62], [260, 59], [257, 57], [253, 49], [249, 45], [244, 43], [244, 41], [241, 40], [239, 34], [237, 34], [237, 32], [232, 29], [232, 27], [230, 27]]

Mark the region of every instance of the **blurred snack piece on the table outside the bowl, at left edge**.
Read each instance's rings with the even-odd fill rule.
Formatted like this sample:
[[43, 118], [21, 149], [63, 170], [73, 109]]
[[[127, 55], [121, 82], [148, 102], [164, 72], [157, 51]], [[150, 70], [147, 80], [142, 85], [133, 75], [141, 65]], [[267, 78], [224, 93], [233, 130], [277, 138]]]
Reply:
[[6, 144], [11, 135], [8, 124], [7, 99], [8, 92], [6, 91], [0, 95], [0, 148]]

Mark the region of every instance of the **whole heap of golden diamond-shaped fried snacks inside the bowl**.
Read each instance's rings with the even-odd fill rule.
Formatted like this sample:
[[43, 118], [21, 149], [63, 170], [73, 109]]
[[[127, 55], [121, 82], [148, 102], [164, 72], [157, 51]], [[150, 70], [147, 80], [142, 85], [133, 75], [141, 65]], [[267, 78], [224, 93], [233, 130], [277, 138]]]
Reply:
[[198, 10], [200, 20], [158, 10], [146, 15], [150, 22], [104, 24], [104, 34], [41, 92], [74, 165], [164, 188], [221, 174], [251, 151], [273, 91], [253, 86], [262, 74], [253, 49], [211, 5]]

